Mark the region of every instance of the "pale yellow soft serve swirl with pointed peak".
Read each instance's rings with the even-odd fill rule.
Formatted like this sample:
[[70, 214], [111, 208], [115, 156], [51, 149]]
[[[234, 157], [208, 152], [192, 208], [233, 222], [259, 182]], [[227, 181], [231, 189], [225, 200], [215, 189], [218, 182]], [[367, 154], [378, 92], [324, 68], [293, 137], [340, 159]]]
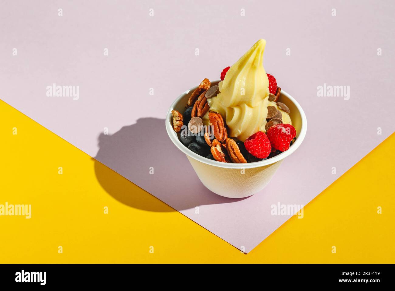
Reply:
[[[269, 101], [269, 80], [263, 68], [266, 41], [258, 40], [226, 73], [218, 84], [220, 93], [208, 99], [210, 110], [226, 120], [229, 136], [245, 141], [257, 131], [265, 131], [267, 107], [276, 106]], [[291, 123], [280, 110], [284, 123]]]

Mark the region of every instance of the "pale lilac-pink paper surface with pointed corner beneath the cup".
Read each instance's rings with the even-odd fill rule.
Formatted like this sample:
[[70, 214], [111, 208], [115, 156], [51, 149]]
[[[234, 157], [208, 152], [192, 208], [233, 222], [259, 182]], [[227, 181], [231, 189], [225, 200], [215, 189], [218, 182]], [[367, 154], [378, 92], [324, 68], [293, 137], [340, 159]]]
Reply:
[[[3, 2], [0, 98], [248, 252], [289, 218], [270, 215], [271, 204], [307, 204], [395, 129], [388, 93], [395, 65], [393, 2], [302, 3]], [[217, 80], [259, 38], [267, 40], [266, 71], [304, 108], [308, 131], [267, 188], [231, 200], [201, 185], [168, 139], [164, 118], [179, 94], [203, 78]], [[79, 86], [79, 100], [47, 97], [53, 83]], [[324, 83], [350, 86], [350, 100], [317, 97]], [[101, 134], [104, 127], [111, 135]], [[175, 162], [182, 167], [178, 179], [171, 175]], [[120, 202], [139, 207], [133, 193], [114, 193], [106, 177], [98, 179]]]

